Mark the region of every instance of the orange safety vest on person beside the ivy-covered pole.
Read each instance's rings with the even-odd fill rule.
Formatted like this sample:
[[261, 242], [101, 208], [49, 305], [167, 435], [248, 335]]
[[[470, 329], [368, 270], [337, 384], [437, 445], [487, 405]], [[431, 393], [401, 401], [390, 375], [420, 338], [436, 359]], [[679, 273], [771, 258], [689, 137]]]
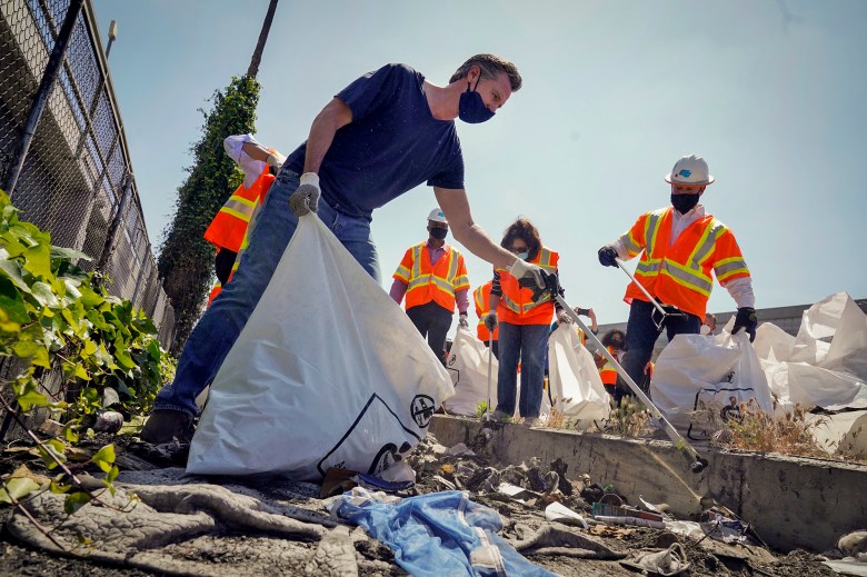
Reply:
[[220, 208], [205, 231], [205, 240], [215, 247], [226, 248], [232, 252], [240, 250], [243, 235], [247, 231], [247, 226], [250, 223], [250, 217], [256, 209], [256, 203], [265, 201], [265, 197], [273, 183], [275, 177], [270, 173], [269, 168], [268, 166], [265, 167], [261, 176], [256, 179], [256, 182], [250, 188], [246, 188], [241, 183], [232, 192], [232, 196]]

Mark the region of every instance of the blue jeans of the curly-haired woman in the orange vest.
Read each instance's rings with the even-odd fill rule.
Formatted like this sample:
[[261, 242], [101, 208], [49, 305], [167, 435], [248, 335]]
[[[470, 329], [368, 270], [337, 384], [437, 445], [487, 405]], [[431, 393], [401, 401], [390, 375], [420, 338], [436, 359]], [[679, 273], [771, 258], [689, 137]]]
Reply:
[[548, 325], [499, 324], [499, 362], [497, 372], [497, 410], [515, 415], [518, 387], [518, 361], [521, 364], [520, 416], [535, 418], [541, 409], [545, 388], [545, 355], [548, 349]]

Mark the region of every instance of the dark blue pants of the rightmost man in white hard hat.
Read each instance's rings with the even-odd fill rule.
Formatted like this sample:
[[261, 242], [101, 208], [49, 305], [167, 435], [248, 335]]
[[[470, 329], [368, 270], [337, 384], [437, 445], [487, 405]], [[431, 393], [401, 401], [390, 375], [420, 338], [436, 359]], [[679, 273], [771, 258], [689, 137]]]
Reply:
[[[656, 328], [652, 319], [655, 310], [654, 305], [646, 300], [632, 300], [632, 305], [629, 307], [629, 320], [626, 322], [626, 354], [621, 364], [624, 370], [636, 385], [642, 387], [646, 394], [649, 394], [649, 382], [645, 382], [645, 365], [650, 360], [654, 345], [659, 338], [659, 329]], [[669, 341], [676, 335], [698, 335], [701, 319], [688, 312], [684, 315], [682, 317], [666, 318], [664, 327]]]

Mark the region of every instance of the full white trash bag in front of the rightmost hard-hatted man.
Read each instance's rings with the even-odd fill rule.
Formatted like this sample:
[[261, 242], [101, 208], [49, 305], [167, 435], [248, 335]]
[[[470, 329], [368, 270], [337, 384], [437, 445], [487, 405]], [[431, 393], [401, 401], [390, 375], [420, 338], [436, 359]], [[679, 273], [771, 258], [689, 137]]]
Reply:
[[765, 371], [746, 331], [678, 335], [659, 355], [650, 398], [681, 434], [708, 439], [738, 416], [738, 407], [771, 412]]

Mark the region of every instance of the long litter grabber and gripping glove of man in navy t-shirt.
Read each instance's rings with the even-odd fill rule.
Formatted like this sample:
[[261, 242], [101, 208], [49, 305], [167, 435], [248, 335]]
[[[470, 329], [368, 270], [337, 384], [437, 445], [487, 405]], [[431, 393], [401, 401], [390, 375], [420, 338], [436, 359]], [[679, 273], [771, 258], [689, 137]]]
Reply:
[[599, 349], [599, 352], [608, 360], [608, 362], [611, 364], [615, 370], [617, 370], [617, 374], [622, 377], [624, 381], [629, 386], [635, 396], [638, 397], [644, 406], [647, 407], [647, 410], [650, 411], [650, 415], [652, 415], [660, 422], [662, 429], [666, 431], [666, 435], [668, 435], [668, 438], [671, 439], [671, 442], [675, 444], [675, 447], [677, 447], [677, 449], [689, 459], [689, 467], [692, 472], [701, 472], [705, 467], [708, 466], [707, 459], [701, 457], [698, 451], [696, 451], [696, 449], [689, 444], [689, 441], [687, 441], [679, 432], [677, 432], [677, 429], [675, 429], [675, 427], [668, 422], [668, 419], [665, 418], [662, 412], [656, 407], [656, 405], [654, 405], [650, 398], [645, 395], [645, 391], [642, 391], [641, 388], [636, 385], [629, 374], [626, 372], [626, 369], [624, 369], [617, 359], [615, 359], [614, 356], [608, 352], [608, 349], [602, 346], [597, 336], [594, 335], [589, 328], [587, 328], [587, 325], [584, 324], [581, 318], [566, 302], [566, 300], [562, 298], [562, 295], [560, 294], [561, 291], [557, 280], [557, 275], [542, 271], [541, 278], [545, 282], [545, 287], [539, 287], [536, 285], [534, 279], [521, 279], [519, 282], [521, 286], [532, 290], [532, 299], [535, 301], [538, 301], [539, 298], [541, 298], [546, 292], [549, 292], [551, 297], [554, 297], [554, 300], [556, 300], [557, 304], [564, 308], [569, 318], [572, 319], [572, 322], [578, 325], [578, 327], [584, 330], [585, 335], [587, 335], [587, 338], [592, 339], [592, 341], [596, 344], [596, 347]]

